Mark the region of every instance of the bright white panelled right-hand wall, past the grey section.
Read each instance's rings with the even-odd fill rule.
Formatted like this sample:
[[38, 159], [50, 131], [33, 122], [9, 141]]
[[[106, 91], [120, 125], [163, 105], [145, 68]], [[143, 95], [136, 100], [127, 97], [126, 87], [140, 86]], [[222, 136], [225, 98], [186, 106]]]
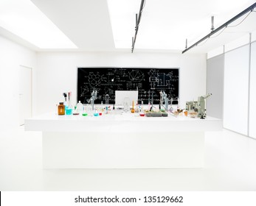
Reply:
[[224, 128], [256, 138], [256, 31], [215, 49], [224, 55]]

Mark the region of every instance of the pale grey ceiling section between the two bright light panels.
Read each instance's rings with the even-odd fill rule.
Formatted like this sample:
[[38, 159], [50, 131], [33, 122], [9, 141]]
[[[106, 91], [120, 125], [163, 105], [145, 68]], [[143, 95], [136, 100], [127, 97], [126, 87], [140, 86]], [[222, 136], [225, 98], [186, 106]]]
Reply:
[[79, 49], [114, 49], [106, 0], [32, 0]]

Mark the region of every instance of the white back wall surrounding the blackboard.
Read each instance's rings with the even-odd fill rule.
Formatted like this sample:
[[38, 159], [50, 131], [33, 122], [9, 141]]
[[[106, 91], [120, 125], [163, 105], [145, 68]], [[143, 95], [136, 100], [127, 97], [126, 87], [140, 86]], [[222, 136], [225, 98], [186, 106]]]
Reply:
[[55, 109], [62, 93], [77, 96], [77, 67], [179, 67], [181, 107], [206, 93], [206, 54], [127, 52], [39, 52], [37, 83], [38, 113]]

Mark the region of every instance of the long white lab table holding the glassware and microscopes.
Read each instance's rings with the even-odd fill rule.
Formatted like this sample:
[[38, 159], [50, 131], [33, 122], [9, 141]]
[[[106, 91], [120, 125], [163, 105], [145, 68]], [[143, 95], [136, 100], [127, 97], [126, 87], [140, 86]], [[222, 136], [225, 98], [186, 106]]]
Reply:
[[218, 118], [131, 113], [25, 120], [26, 131], [42, 132], [44, 168], [201, 168], [204, 132], [221, 129]]

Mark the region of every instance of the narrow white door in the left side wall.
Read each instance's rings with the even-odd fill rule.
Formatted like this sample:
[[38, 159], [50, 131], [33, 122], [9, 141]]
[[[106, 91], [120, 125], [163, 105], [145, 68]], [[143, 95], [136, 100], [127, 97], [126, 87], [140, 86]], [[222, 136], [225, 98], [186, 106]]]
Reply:
[[19, 70], [19, 115], [20, 125], [32, 117], [32, 68], [20, 65]]

